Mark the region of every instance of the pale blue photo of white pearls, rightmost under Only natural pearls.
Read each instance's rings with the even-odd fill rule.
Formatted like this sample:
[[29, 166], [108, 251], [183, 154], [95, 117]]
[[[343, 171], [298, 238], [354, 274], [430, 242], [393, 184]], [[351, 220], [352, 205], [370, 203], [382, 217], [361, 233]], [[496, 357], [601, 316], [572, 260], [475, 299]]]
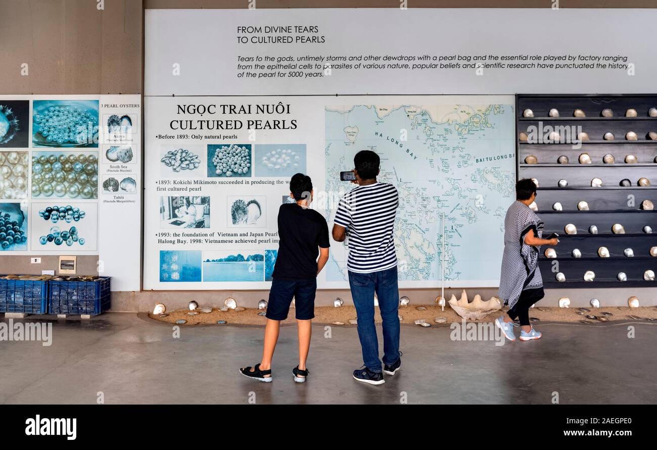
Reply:
[[306, 145], [256, 144], [254, 149], [256, 177], [291, 177], [306, 173]]

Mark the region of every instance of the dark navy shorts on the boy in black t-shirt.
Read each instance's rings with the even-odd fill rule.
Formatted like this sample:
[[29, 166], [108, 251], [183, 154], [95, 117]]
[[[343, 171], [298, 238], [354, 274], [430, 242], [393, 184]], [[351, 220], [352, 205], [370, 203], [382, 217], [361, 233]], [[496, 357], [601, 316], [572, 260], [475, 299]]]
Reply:
[[315, 317], [315, 291], [317, 279], [282, 280], [273, 279], [269, 291], [267, 314], [265, 317], [273, 321], [287, 319], [290, 304], [294, 298], [296, 319], [307, 321]]

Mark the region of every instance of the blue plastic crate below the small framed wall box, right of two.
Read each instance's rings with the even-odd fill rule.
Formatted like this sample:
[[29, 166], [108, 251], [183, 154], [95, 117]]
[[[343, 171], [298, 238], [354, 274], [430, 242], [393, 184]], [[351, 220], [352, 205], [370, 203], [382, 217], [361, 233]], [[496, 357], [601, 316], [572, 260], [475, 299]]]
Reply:
[[49, 281], [51, 314], [97, 315], [110, 308], [110, 279], [97, 281]]

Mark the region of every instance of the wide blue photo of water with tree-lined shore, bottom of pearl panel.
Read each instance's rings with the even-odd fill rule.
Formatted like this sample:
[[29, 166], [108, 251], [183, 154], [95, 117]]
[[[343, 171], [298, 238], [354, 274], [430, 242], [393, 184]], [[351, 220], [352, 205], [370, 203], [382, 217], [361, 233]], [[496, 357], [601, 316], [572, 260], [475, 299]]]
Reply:
[[203, 281], [263, 281], [265, 256], [244, 250], [203, 252]]

